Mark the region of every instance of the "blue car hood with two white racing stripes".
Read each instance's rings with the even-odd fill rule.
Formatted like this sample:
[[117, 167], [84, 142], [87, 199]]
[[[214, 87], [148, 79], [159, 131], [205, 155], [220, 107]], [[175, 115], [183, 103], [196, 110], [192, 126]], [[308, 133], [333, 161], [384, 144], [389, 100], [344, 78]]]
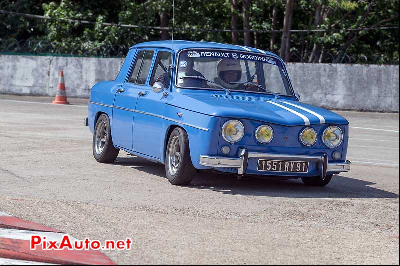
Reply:
[[[286, 99], [283, 99], [286, 98]], [[284, 126], [348, 124], [342, 116], [324, 108], [266, 94], [224, 92], [170, 93], [166, 103], [206, 115], [264, 121]]]

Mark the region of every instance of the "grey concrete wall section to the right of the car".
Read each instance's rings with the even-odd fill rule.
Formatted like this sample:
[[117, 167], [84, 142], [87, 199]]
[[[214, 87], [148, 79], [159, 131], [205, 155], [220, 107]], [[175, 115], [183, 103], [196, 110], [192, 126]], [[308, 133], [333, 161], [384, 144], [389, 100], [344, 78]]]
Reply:
[[398, 112], [398, 65], [287, 64], [301, 101], [329, 109]]

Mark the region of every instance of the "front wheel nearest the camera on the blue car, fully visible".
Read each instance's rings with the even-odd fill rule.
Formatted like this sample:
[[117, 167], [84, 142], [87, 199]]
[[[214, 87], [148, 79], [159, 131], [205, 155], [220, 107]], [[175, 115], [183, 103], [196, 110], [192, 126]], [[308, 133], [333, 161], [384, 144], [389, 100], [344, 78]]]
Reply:
[[168, 139], [165, 154], [166, 177], [172, 185], [190, 184], [196, 172], [189, 148], [189, 137], [182, 128], [175, 128]]

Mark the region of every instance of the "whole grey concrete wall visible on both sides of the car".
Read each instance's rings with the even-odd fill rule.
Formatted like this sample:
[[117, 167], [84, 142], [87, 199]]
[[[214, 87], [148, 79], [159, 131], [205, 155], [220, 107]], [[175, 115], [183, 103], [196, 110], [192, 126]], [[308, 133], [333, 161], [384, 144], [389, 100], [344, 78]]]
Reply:
[[[1, 55], [1, 93], [54, 96], [64, 70], [69, 97], [115, 79], [122, 58]], [[301, 101], [329, 109], [398, 112], [398, 66], [288, 63]]]

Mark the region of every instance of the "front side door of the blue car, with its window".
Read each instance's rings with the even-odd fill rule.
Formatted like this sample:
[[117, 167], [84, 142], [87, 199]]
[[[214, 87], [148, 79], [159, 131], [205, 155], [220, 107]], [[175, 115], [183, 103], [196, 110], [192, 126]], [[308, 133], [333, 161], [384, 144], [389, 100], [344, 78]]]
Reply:
[[155, 93], [152, 85], [161, 81], [165, 90], [170, 88], [170, 64], [172, 53], [167, 49], [157, 49], [151, 76], [145, 91], [137, 100], [133, 122], [133, 150], [157, 159], [161, 158], [161, 139], [165, 137], [165, 102], [168, 96]]

